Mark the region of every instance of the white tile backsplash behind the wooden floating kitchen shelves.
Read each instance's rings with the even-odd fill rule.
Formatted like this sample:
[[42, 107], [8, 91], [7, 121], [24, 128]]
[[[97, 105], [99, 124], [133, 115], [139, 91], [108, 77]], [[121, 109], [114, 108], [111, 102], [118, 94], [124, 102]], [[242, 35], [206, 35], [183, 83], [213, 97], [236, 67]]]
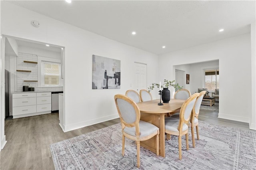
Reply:
[[[31, 72], [16, 71], [17, 76], [17, 91], [23, 91], [23, 86], [28, 85], [34, 87], [35, 91], [62, 91], [63, 87], [38, 87], [38, 64], [37, 63], [24, 63], [24, 61], [36, 61], [36, 54], [19, 53], [16, 57], [17, 70], [28, 70]], [[31, 80], [31, 81], [24, 81]]]

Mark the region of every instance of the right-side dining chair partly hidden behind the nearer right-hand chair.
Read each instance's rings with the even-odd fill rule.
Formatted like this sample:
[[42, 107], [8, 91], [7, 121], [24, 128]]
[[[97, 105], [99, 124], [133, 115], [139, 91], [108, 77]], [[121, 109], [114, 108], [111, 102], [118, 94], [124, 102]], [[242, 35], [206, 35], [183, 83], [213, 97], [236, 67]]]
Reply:
[[[199, 96], [196, 99], [196, 103], [195, 103], [195, 105], [193, 107], [193, 110], [192, 110], [192, 113], [191, 113], [190, 122], [188, 123], [188, 127], [191, 127], [193, 148], [196, 147], [195, 137], [194, 137], [194, 127], [196, 127], [196, 136], [197, 136], [197, 140], [199, 140], [198, 115], [199, 115], [200, 106], [201, 106], [201, 103], [202, 103], [202, 100], [203, 100], [203, 97], [204, 97], [205, 93], [206, 93], [206, 91], [201, 91], [199, 93]], [[175, 113], [175, 114], [171, 115], [171, 117], [176, 118], [176, 119], [180, 119], [180, 114]]]

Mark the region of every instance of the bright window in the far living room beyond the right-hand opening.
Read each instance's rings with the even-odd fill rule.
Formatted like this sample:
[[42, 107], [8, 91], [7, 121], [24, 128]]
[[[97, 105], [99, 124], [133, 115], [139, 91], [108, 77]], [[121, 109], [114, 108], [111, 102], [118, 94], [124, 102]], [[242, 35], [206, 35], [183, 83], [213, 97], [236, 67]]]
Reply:
[[208, 91], [219, 89], [219, 68], [205, 70], [205, 86]]

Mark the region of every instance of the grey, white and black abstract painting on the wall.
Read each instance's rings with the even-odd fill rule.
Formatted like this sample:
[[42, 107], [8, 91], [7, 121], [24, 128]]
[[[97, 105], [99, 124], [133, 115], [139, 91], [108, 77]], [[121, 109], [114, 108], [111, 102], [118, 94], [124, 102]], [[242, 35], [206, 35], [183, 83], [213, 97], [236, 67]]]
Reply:
[[120, 89], [121, 61], [92, 55], [92, 89]]

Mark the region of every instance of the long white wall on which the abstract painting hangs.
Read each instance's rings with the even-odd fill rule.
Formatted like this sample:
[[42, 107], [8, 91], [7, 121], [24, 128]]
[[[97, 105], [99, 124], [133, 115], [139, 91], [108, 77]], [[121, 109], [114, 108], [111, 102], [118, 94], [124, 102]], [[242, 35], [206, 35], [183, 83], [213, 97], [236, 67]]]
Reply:
[[[147, 82], [158, 82], [158, 56], [1, 1], [1, 33], [65, 47], [65, 131], [118, 117], [114, 95], [133, 89], [134, 61], [146, 63]], [[38, 20], [40, 27], [30, 23]], [[19, 25], [17, 27], [17, 24]], [[92, 55], [121, 60], [121, 89], [92, 90]], [[149, 84], [148, 84], [149, 85]]]

